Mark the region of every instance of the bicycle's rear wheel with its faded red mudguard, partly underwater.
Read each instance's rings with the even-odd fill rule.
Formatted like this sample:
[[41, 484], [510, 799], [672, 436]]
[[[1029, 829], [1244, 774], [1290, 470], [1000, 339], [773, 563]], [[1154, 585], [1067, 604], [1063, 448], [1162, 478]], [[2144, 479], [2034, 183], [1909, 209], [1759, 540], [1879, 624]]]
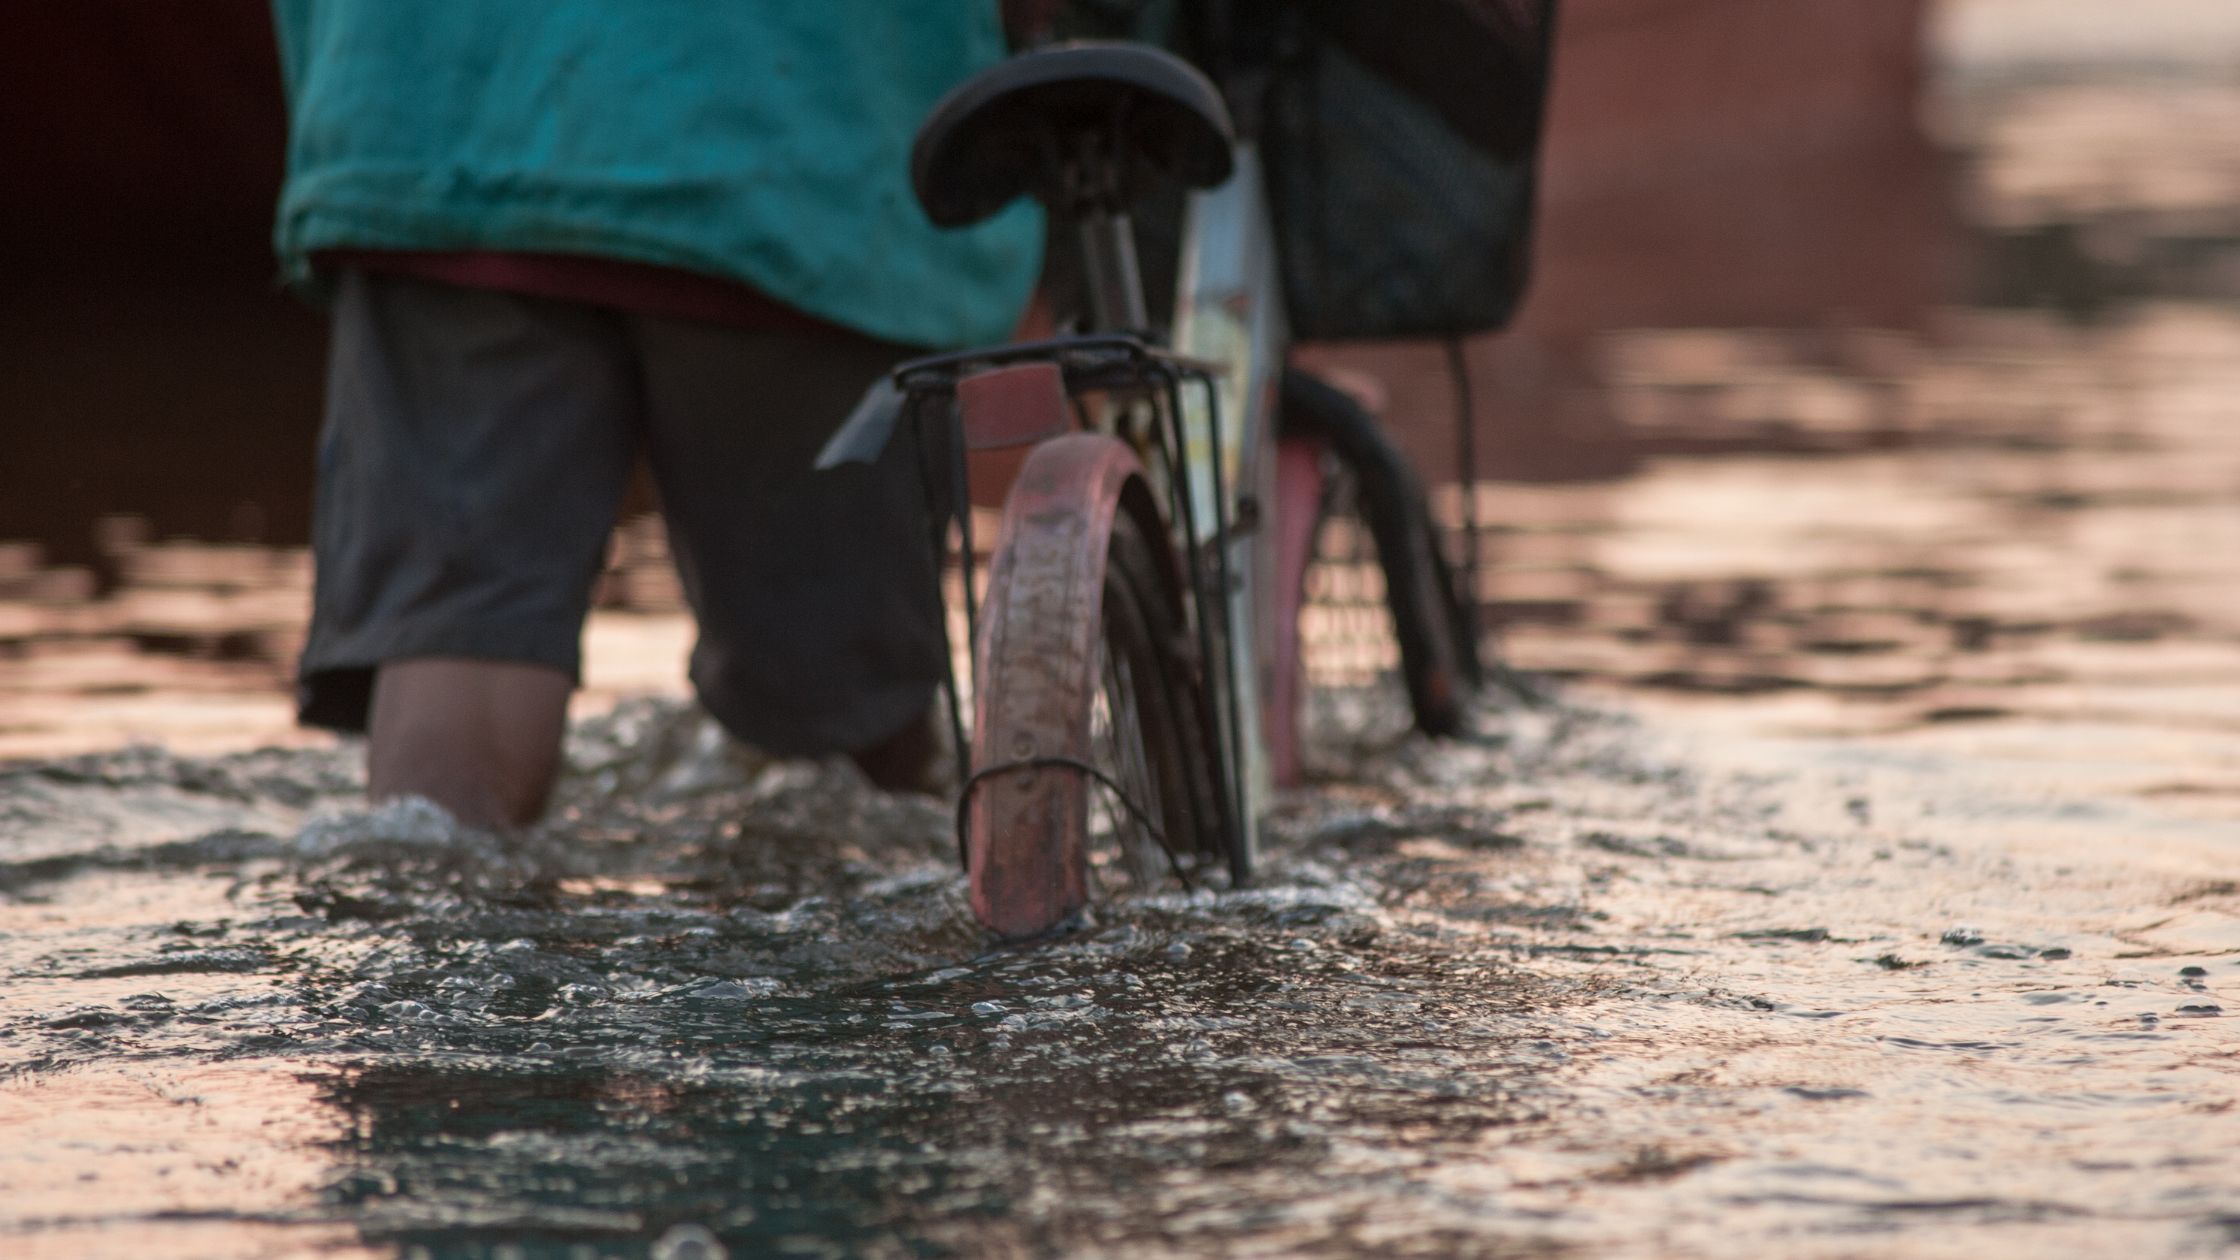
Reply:
[[1044, 498], [1006, 507], [981, 605], [965, 852], [974, 915], [1010, 939], [1075, 921], [1095, 895], [1189, 879], [1207, 859], [1250, 877], [1250, 854], [1225, 839], [1236, 830], [1223, 825], [1178, 581], [1140, 509], [1120, 502], [1142, 484], [1037, 466], [1118, 462], [1111, 451], [1124, 446], [1075, 435], [1030, 455], [1021, 487]]

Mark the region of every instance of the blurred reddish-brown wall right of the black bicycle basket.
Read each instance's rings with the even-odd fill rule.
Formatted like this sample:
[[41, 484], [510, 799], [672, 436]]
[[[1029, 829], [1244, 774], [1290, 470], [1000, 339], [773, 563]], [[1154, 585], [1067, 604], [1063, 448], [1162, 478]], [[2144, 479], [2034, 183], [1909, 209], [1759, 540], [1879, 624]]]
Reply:
[[[1597, 390], [1622, 327], [1917, 325], [1962, 233], [1917, 123], [1929, 0], [1564, 0], [1534, 280], [1469, 343], [1481, 473], [1631, 460]], [[1382, 377], [1391, 426], [1454, 469], [1440, 348], [1322, 352]]]

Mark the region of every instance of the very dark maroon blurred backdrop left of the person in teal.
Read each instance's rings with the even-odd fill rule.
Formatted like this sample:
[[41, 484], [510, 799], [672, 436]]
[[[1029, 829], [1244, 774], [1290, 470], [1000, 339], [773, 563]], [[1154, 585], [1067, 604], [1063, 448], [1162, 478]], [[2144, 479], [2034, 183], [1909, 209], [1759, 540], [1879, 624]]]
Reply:
[[302, 538], [320, 321], [273, 291], [264, 0], [11, 4], [0, 40], [0, 538]]

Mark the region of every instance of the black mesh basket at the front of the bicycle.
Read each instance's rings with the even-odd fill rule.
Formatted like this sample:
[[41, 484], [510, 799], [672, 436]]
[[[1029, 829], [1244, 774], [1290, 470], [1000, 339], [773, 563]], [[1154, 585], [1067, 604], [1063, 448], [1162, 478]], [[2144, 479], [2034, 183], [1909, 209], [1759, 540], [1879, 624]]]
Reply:
[[1523, 296], [1557, 0], [1281, 4], [1261, 119], [1292, 334], [1456, 336]]

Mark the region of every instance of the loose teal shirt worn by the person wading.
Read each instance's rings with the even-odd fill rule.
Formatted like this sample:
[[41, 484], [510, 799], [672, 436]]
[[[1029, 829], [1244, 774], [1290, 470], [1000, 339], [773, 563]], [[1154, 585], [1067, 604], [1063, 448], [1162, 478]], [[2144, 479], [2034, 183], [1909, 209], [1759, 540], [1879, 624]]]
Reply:
[[273, 0], [282, 276], [318, 249], [589, 253], [907, 345], [1001, 341], [1042, 222], [934, 229], [909, 141], [992, 0]]

